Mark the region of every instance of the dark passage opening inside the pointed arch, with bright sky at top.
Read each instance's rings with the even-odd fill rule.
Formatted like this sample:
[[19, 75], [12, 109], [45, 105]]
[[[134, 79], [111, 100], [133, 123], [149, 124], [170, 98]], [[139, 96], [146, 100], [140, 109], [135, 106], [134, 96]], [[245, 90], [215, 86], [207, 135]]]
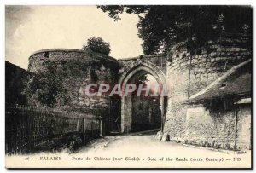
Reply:
[[[138, 72], [129, 82], [137, 85], [131, 94], [131, 132], [160, 129], [160, 95], [155, 92], [159, 85], [157, 80], [149, 73]], [[138, 91], [140, 84], [148, 90]]]

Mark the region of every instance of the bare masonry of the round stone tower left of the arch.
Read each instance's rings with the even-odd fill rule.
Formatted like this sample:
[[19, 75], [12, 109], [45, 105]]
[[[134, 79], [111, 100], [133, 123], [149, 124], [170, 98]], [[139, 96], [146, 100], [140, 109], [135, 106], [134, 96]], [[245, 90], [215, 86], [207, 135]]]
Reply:
[[[115, 84], [118, 78], [119, 64], [108, 55], [85, 52], [76, 49], [46, 49], [36, 52], [29, 58], [28, 71], [44, 73], [48, 66], [55, 68], [55, 78], [63, 78], [62, 84], [68, 102], [55, 106], [67, 112], [108, 114], [108, 96], [88, 97], [85, 86], [94, 84]], [[35, 101], [31, 101], [35, 102]]]

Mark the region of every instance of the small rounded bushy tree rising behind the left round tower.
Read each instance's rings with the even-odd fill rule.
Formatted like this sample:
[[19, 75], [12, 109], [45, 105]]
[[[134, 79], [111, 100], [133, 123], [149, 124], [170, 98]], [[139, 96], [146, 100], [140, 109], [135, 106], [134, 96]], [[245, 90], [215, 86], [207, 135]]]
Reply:
[[83, 45], [84, 50], [91, 50], [93, 52], [108, 55], [111, 51], [110, 43], [105, 42], [101, 37], [90, 37], [87, 43]]

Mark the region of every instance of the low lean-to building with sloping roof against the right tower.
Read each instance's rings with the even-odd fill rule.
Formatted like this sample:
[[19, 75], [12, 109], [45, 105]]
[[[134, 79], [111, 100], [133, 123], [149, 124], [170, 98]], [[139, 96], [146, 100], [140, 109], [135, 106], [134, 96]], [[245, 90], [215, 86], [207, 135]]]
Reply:
[[206, 147], [251, 148], [252, 60], [189, 97], [185, 140]]

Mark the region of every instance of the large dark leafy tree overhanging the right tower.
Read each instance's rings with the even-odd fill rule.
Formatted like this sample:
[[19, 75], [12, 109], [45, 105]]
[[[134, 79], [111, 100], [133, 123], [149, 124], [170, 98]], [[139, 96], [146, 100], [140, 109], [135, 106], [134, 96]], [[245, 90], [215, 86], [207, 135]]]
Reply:
[[98, 6], [115, 21], [119, 14], [137, 14], [138, 35], [145, 55], [167, 52], [188, 41], [193, 51], [224, 33], [251, 34], [252, 9], [248, 6]]

